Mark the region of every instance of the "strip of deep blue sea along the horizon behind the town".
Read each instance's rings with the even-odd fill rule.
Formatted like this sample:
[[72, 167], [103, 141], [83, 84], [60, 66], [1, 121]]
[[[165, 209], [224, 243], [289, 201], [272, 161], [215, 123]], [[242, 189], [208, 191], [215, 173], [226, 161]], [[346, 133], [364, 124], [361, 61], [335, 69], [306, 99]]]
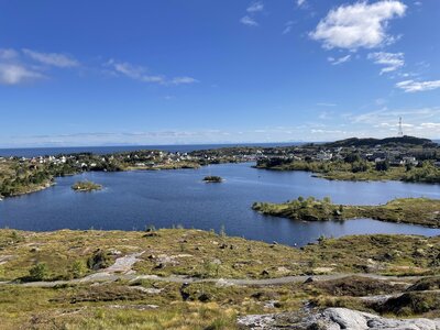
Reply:
[[300, 142], [290, 143], [235, 143], [235, 144], [183, 144], [183, 145], [118, 145], [118, 146], [69, 146], [69, 147], [23, 147], [23, 148], [0, 148], [0, 156], [10, 157], [36, 157], [55, 156], [59, 154], [94, 153], [98, 155], [138, 150], [161, 150], [166, 152], [189, 153], [196, 150], [220, 148], [231, 146], [286, 146], [299, 145]]

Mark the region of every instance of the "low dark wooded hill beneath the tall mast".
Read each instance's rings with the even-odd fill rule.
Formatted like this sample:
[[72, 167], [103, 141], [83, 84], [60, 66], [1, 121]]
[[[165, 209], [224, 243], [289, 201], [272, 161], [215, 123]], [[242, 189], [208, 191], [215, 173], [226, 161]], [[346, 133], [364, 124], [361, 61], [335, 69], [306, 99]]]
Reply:
[[329, 142], [324, 145], [328, 147], [338, 146], [374, 146], [374, 145], [424, 145], [424, 146], [436, 146], [437, 143], [429, 139], [421, 139], [415, 136], [404, 135], [402, 138], [385, 138], [385, 139], [374, 139], [374, 138], [350, 138], [345, 140], [340, 140], [336, 142]]

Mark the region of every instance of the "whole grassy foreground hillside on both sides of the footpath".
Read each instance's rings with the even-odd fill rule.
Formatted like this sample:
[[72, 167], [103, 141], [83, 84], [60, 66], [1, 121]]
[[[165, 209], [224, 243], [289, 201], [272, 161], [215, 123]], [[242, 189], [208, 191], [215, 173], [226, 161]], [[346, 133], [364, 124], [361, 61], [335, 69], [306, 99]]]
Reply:
[[[438, 277], [351, 277], [279, 285], [189, 285], [152, 279], [23, 286], [82, 278], [121, 256], [144, 252], [136, 275], [267, 278], [299, 274], [435, 275], [440, 237], [361, 235], [294, 249], [198, 230], [0, 231], [2, 329], [235, 329], [239, 315], [298, 311], [304, 304], [345, 306], [387, 316], [439, 317]], [[112, 273], [118, 275], [119, 273]], [[352, 275], [348, 275], [352, 276]], [[160, 278], [158, 277], [158, 278]], [[361, 296], [404, 293], [375, 302]], [[37, 299], [35, 299], [37, 297]], [[314, 306], [312, 305], [312, 306]]]

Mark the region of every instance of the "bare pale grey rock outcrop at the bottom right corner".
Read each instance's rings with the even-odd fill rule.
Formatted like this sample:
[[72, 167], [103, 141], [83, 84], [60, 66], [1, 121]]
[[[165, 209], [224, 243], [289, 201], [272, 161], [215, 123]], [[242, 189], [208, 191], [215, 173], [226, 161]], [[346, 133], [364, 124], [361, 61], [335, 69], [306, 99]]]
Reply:
[[346, 308], [328, 308], [311, 314], [273, 314], [239, 318], [240, 329], [268, 330], [440, 330], [440, 319], [388, 319]]

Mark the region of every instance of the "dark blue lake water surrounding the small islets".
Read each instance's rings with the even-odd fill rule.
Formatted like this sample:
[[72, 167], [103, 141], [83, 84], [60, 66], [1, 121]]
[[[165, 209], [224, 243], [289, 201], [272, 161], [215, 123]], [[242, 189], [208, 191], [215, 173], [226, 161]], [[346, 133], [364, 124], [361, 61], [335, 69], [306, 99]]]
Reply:
[[[252, 164], [210, 165], [200, 169], [85, 173], [57, 178], [46, 190], [0, 201], [0, 227], [47, 231], [57, 229], [142, 230], [146, 226], [219, 231], [229, 235], [304, 245], [321, 234], [363, 233], [438, 235], [440, 230], [375, 220], [304, 222], [264, 217], [254, 201], [283, 202], [298, 196], [331, 197], [337, 204], [384, 204], [396, 197], [440, 198], [440, 185], [330, 182], [304, 172], [254, 169]], [[205, 184], [219, 175], [222, 184]], [[75, 193], [70, 186], [89, 179], [105, 186]]]

